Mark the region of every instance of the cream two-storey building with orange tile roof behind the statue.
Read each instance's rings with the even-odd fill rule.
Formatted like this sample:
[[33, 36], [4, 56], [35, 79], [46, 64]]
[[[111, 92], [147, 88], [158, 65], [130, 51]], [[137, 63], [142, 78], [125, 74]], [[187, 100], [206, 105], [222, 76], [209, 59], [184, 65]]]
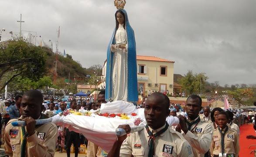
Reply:
[[[102, 86], [106, 86], [106, 61], [102, 69]], [[137, 55], [138, 91], [148, 96], [151, 92], [174, 92], [174, 61], [154, 56]], [[181, 87], [177, 87], [181, 88]], [[179, 91], [178, 91], [179, 92]]]

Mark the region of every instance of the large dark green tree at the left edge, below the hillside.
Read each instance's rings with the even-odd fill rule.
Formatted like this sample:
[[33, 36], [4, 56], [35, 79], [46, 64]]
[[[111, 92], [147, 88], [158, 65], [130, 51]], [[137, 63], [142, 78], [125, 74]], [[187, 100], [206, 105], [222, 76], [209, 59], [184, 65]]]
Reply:
[[8, 77], [0, 92], [17, 76], [38, 81], [46, 72], [46, 55], [46, 51], [39, 46], [21, 40], [8, 41], [8, 46], [0, 49], [0, 79]]

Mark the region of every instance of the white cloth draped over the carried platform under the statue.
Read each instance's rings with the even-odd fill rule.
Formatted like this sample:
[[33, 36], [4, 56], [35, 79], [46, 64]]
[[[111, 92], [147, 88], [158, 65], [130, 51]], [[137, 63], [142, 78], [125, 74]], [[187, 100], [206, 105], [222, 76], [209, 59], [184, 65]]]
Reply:
[[[109, 152], [116, 140], [116, 128], [122, 124], [134, 125], [136, 118], [143, 119], [140, 125], [146, 125], [144, 117], [144, 109], [136, 109], [133, 103], [125, 101], [108, 102], [102, 104], [102, 113], [126, 113], [131, 119], [108, 118], [92, 114], [93, 116], [56, 115], [52, 118], [52, 122], [68, 127], [69, 130], [82, 133], [88, 140], [102, 147], [103, 150]], [[120, 111], [120, 112], [119, 112]], [[137, 113], [137, 116], [130, 116], [131, 113]], [[170, 126], [177, 125], [179, 120], [177, 117], [168, 116], [167, 122]]]

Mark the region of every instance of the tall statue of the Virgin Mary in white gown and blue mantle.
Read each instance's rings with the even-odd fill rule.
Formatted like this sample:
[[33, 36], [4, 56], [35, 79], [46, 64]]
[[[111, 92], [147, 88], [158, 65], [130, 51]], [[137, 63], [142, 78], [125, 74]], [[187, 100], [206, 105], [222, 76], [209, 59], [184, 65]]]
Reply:
[[115, 14], [116, 27], [107, 50], [106, 101], [138, 101], [136, 42], [126, 10]]

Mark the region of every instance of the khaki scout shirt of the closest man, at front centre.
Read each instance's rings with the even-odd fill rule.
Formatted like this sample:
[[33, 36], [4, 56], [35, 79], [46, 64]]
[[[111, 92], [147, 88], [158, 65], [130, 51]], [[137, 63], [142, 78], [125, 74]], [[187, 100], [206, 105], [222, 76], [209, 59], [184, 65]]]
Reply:
[[[149, 135], [144, 130], [127, 136], [120, 149], [120, 157], [147, 157]], [[170, 128], [155, 137], [154, 157], [193, 157], [191, 146], [182, 135]], [[167, 148], [170, 148], [167, 150]]]

